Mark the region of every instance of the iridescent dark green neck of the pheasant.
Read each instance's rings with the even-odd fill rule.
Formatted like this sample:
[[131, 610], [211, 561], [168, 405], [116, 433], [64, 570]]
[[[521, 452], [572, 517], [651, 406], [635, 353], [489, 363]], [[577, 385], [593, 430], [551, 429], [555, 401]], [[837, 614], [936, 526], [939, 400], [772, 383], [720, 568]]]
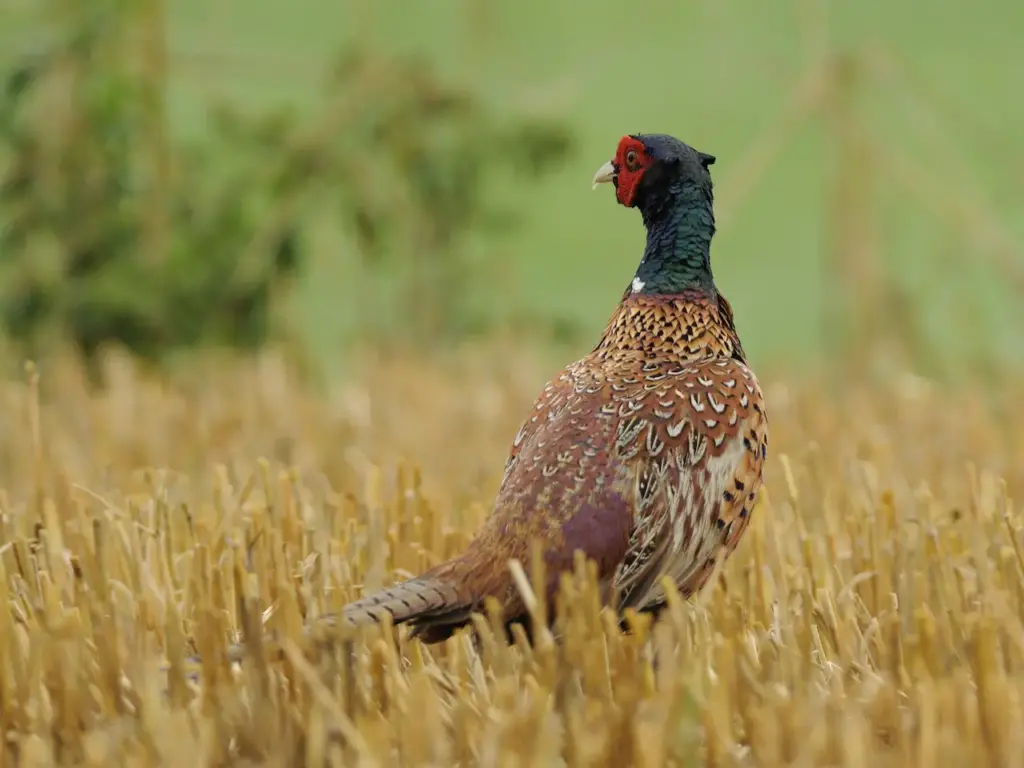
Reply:
[[677, 294], [697, 289], [714, 294], [711, 184], [673, 184], [657, 199], [645, 201], [641, 212], [647, 246], [633, 279], [633, 292]]

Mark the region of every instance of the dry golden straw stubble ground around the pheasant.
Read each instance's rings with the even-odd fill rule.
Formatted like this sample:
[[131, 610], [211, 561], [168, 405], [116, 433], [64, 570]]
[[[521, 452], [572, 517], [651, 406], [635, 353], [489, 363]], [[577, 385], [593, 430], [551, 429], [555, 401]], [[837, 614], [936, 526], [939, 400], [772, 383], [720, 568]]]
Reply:
[[[485, 514], [550, 373], [499, 351], [326, 393], [272, 356], [0, 388], [2, 764], [1024, 765], [1012, 382], [764, 377], [768, 493], [721, 580], [653, 627], [620, 633], [581, 578], [558, 643], [483, 622], [480, 653], [379, 630], [303, 653], [300, 616]], [[284, 652], [232, 671], [245, 616]]]

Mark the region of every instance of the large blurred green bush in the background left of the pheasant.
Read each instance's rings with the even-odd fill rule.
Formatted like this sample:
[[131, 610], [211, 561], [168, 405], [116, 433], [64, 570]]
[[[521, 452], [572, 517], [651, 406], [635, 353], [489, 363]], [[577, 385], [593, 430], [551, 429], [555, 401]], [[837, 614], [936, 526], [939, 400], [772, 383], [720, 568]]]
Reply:
[[488, 175], [552, 168], [565, 127], [498, 115], [422, 61], [348, 50], [317, 114], [220, 108], [184, 143], [166, 126], [161, 61], [144, 60], [159, 50], [126, 55], [162, 39], [144, 5], [49, 0], [51, 39], [2, 73], [0, 323], [19, 351], [70, 338], [92, 368], [111, 343], [153, 361], [258, 347], [283, 333], [274, 300], [325, 203], [362, 264], [395, 275], [389, 317], [459, 333], [475, 279], [462, 240], [515, 225]]

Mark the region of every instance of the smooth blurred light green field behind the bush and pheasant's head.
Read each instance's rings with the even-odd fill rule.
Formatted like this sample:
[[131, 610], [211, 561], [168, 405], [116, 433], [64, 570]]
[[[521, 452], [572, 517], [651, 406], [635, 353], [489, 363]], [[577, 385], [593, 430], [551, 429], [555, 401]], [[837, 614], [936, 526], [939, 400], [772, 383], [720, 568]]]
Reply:
[[[13, 50], [26, 39], [30, 6], [5, 0], [0, 48]], [[176, 129], [191, 132], [202, 130], [206, 105], [221, 100], [308, 108], [331, 56], [357, 38], [423, 54], [496, 105], [564, 117], [579, 138], [569, 162], [534, 188], [502, 190], [524, 198], [524, 228], [474, 244], [516, 275], [511, 291], [502, 286], [480, 300], [592, 333], [629, 280], [642, 234], [635, 212], [614, 207], [606, 189], [590, 191], [590, 176], [622, 134], [674, 133], [719, 158], [714, 259], [749, 349], [759, 357], [806, 359], [820, 347], [823, 288], [833, 279], [825, 213], [834, 154], [820, 123], [795, 131], [741, 205], [732, 201], [750, 180], [745, 151], [807, 71], [816, 7], [735, 0], [176, 0], [167, 4], [170, 115]], [[1024, 240], [1024, 102], [1015, 95], [1024, 8], [963, 0], [935, 0], [927, 10], [881, 0], [827, 7], [830, 50], [881, 46], [915, 83], [912, 91], [865, 86], [858, 110], [873, 135], [927, 171], [921, 183], [928, 195], [968, 201], [992, 219], [967, 225], [929, 210], [879, 164], [879, 260], [924, 298], [936, 338], [948, 340], [954, 354], [972, 349], [979, 329], [998, 333], [1020, 321], [1009, 308], [1014, 292], [1005, 268], [994, 269], [993, 257], [965, 230], [997, 229], [1014, 246], [1004, 253], [1011, 262]], [[357, 317], [336, 310], [346, 291], [358, 290], [345, 279], [345, 250], [328, 242], [317, 251], [300, 302], [325, 350], [346, 331], [357, 333]], [[1024, 269], [1019, 260], [1016, 268]], [[1020, 353], [1016, 336], [1001, 333], [996, 343]]]

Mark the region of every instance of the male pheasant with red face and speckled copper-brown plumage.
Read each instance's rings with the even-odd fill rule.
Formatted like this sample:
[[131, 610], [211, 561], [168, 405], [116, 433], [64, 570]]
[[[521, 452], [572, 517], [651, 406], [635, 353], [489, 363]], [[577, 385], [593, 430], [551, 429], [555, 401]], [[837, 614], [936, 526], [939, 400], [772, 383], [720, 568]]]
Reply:
[[541, 393], [512, 442], [490, 517], [466, 550], [347, 605], [390, 613], [425, 642], [497, 598], [526, 618], [508, 568], [542, 545], [549, 598], [582, 550], [605, 597], [657, 610], [662, 577], [684, 596], [750, 522], [768, 451], [761, 388], [712, 276], [711, 155], [664, 134], [624, 136], [594, 176], [647, 229], [640, 265], [597, 346]]

